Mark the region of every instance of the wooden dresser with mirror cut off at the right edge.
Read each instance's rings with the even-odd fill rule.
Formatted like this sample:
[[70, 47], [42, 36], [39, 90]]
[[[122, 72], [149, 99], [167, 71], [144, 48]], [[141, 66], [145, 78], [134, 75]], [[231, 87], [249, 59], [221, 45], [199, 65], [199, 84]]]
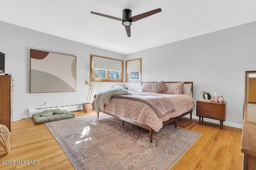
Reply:
[[244, 153], [244, 170], [256, 168], [256, 104], [245, 104], [241, 152]]

